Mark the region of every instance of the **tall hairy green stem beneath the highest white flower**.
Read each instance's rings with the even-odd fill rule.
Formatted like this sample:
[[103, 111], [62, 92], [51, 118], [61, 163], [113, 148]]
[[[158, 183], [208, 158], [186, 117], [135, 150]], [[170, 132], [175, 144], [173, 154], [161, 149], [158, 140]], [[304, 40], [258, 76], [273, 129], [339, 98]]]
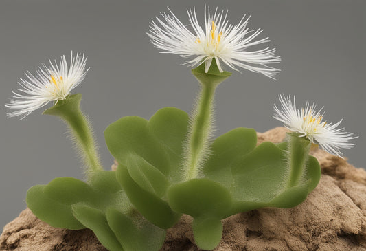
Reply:
[[198, 107], [192, 118], [190, 137], [187, 142], [187, 166], [185, 179], [198, 177], [199, 168], [207, 156], [209, 137], [213, 124], [213, 101], [217, 85], [201, 85]]

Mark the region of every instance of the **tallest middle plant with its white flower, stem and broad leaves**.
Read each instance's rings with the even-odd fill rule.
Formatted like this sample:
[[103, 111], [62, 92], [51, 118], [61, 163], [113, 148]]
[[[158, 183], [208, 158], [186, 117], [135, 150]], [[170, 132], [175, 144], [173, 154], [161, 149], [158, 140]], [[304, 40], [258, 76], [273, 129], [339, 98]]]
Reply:
[[[249, 31], [248, 19], [229, 25], [226, 14], [217, 10], [205, 12], [205, 30], [196, 13], [188, 11], [194, 33], [172, 12], [162, 16], [163, 21], [152, 21], [148, 35], [163, 52], [193, 58], [187, 63], [198, 65], [192, 69], [201, 87], [196, 107], [189, 119], [173, 108], [161, 109], [149, 121], [122, 118], [106, 129], [106, 144], [119, 163], [117, 180], [146, 219], [168, 228], [178, 219], [176, 213], [191, 215], [196, 244], [212, 249], [222, 236], [221, 219], [264, 206], [296, 206], [317, 186], [320, 168], [308, 152], [288, 164], [294, 157], [286, 154], [287, 144], [256, 146], [253, 129], [234, 129], [211, 140], [215, 90], [231, 76], [222, 63], [271, 78], [278, 72], [268, 67], [279, 63], [274, 49], [249, 51], [268, 41], [255, 40], [262, 30]], [[301, 140], [295, 144], [291, 149], [304, 146]], [[305, 171], [288, 186], [290, 168]], [[152, 203], [159, 206], [149, 208]]]

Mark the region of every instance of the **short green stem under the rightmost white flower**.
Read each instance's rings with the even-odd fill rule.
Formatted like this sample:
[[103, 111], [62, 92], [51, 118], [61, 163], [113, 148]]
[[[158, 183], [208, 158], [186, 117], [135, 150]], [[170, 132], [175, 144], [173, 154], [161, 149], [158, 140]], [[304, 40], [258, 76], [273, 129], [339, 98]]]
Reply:
[[288, 188], [297, 186], [304, 175], [311, 142], [296, 133], [288, 133], [288, 162], [290, 174], [288, 176]]

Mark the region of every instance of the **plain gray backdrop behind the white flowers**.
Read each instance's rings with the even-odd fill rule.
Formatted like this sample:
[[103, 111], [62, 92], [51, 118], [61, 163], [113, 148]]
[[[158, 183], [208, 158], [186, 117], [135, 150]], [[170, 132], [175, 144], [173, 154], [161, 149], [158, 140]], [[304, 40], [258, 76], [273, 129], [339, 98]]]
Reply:
[[[229, 10], [229, 22], [251, 14], [249, 27], [263, 28], [268, 45], [282, 56], [277, 80], [243, 71], [222, 84], [216, 96], [216, 135], [235, 127], [266, 131], [281, 124], [271, 118], [278, 94], [296, 94], [325, 107], [328, 122], [360, 136], [344, 151], [365, 167], [366, 1], [207, 1]], [[198, 91], [183, 59], [159, 54], [146, 32], [150, 20], [167, 11], [187, 23], [185, 9], [203, 1], [2, 0], [0, 2], [0, 228], [25, 208], [30, 186], [55, 177], [82, 179], [65, 124], [36, 111], [22, 121], [6, 118], [3, 105], [25, 70], [35, 72], [47, 58], [84, 52], [91, 70], [73, 93], [92, 122], [106, 168], [113, 163], [103, 131], [122, 116], [152, 116], [161, 107], [187, 112]], [[202, 19], [201, 19], [202, 20]], [[49, 106], [48, 106], [49, 107]]]

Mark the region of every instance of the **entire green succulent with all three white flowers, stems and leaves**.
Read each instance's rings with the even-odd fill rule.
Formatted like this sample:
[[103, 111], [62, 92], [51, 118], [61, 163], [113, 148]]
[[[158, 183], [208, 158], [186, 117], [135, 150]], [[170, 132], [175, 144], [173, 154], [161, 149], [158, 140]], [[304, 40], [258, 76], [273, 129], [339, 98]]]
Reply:
[[312, 144], [340, 155], [353, 146], [352, 133], [326, 124], [314, 105], [297, 110], [290, 96], [280, 96], [275, 118], [293, 133], [285, 142], [257, 145], [254, 129], [237, 128], [213, 140], [216, 87], [231, 76], [222, 67], [248, 69], [274, 78], [279, 63], [274, 49], [251, 50], [268, 42], [262, 30], [247, 28], [248, 19], [229, 25], [227, 13], [205, 9], [204, 29], [196, 12], [187, 11], [190, 25], [170, 12], [152, 21], [148, 36], [165, 53], [189, 58], [201, 93], [188, 116], [165, 107], [150, 120], [128, 116], [104, 132], [117, 171], [104, 171], [95, 151], [90, 125], [80, 111], [81, 94], [70, 95], [87, 73], [86, 58], [65, 57], [60, 66], [43, 65], [21, 80], [9, 116], [27, 116], [54, 101], [44, 113], [67, 122], [83, 153], [86, 181], [54, 179], [28, 190], [27, 204], [43, 221], [59, 228], [90, 228], [108, 250], [159, 250], [165, 229], [182, 214], [193, 217], [198, 247], [213, 249], [222, 237], [221, 219], [255, 208], [290, 208], [306, 199], [318, 184], [321, 170], [309, 156]]

